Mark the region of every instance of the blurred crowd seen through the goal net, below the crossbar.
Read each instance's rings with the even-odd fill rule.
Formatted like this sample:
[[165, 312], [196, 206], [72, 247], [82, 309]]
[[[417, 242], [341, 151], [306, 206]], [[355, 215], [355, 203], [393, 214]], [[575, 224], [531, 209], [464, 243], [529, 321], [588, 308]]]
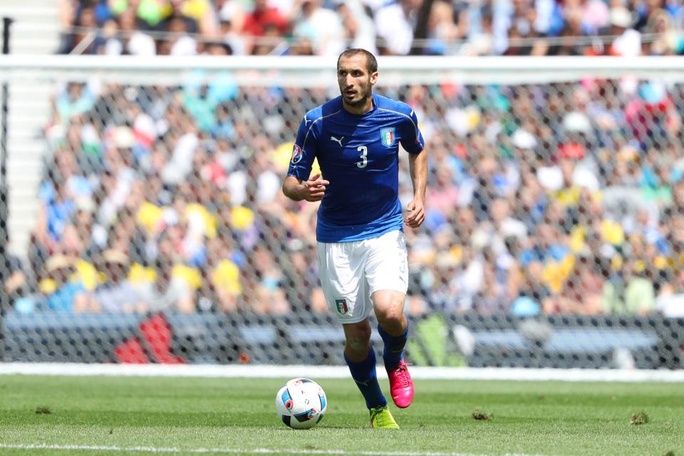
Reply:
[[[406, 229], [410, 314], [684, 313], [683, 86], [379, 92], [416, 110], [430, 153], [427, 219]], [[226, 73], [64, 85], [14, 309], [326, 312], [316, 204], [280, 186], [301, 115], [327, 97]]]

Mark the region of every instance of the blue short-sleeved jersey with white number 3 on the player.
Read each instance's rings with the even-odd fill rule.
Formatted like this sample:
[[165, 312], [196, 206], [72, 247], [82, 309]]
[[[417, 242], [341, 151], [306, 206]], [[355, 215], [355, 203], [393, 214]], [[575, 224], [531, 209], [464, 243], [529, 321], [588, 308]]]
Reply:
[[287, 174], [308, 180], [314, 158], [330, 184], [318, 207], [316, 239], [351, 242], [403, 229], [399, 143], [423, 150], [418, 119], [406, 103], [373, 94], [373, 109], [349, 113], [339, 96], [310, 110], [299, 125]]

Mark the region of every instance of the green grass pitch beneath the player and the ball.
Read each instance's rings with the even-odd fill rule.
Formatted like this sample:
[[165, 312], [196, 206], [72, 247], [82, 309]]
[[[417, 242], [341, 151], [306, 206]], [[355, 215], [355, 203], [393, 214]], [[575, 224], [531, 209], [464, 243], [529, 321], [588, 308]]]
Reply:
[[326, 416], [285, 427], [285, 380], [0, 376], [0, 455], [684, 456], [681, 384], [416, 380], [401, 430], [373, 431], [351, 379], [314, 378]]

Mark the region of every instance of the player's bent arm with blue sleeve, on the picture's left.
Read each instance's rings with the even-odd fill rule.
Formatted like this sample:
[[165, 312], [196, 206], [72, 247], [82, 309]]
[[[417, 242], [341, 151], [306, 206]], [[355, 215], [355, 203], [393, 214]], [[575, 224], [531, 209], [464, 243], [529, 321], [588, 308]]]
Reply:
[[287, 177], [283, 181], [283, 193], [294, 201], [321, 201], [326, 193], [326, 185], [330, 183], [320, 174], [310, 176], [311, 165], [318, 152], [318, 138], [314, 128], [316, 121], [312, 117], [311, 112], [307, 113], [299, 124]]

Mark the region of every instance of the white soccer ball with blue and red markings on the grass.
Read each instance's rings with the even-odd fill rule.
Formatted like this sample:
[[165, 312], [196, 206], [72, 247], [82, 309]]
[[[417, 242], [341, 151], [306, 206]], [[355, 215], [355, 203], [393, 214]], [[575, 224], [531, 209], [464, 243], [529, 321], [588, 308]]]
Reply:
[[308, 378], [293, 378], [276, 394], [276, 412], [294, 429], [310, 429], [323, 419], [328, 400], [321, 385]]

